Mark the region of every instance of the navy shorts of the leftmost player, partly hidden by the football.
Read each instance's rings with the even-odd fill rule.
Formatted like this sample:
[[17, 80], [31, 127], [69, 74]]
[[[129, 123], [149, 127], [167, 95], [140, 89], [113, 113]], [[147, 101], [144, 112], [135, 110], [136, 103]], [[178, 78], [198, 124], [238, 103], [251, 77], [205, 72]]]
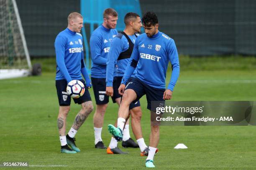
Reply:
[[[80, 80], [82, 83], [84, 83], [85, 91], [84, 95], [81, 97], [75, 99], [73, 98], [75, 103], [78, 103], [79, 105], [83, 102], [92, 101], [89, 90], [86, 88], [85, 82], [83, 79]], [[55, 81], [57, 95], [59, 99], [59, 105], [60, 106], [69, 106], [71, 102], [71, 97], [67, 94], [67, 80], [56, 80]]]

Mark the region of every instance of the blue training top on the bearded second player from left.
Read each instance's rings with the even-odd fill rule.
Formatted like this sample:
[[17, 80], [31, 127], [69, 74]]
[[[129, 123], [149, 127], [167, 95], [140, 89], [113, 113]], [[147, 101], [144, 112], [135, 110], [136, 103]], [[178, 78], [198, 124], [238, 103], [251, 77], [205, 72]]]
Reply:
[[92, 32], [90, 38], [92, 56], [91, 77], [106, 78], [106, 65], [108, 52], [110, 50], [110, 41], [117, 34], [116, 29], [107, 29], [103, 25], [100, 25]]

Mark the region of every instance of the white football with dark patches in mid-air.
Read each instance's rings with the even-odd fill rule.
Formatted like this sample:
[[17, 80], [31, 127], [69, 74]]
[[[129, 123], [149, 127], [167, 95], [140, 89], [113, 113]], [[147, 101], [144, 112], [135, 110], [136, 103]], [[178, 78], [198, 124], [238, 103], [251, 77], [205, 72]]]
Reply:
[[67, 93], [72, 98], [79, 98], [84, 94], [84, 84], [79, 80], [72, 80], [67, 85]]

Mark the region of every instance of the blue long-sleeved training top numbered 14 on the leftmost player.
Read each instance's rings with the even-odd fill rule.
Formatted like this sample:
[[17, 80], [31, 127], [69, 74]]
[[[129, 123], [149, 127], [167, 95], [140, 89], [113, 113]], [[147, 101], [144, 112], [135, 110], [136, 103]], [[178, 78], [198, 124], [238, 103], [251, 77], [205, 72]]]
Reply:
[[79, 80], [82, 72], [87, 87], [90, 86], [91, 80], [84, 64], [82, 35], [66, 28], [57, 35], [54, 47], [57, 63], [55, 80]]

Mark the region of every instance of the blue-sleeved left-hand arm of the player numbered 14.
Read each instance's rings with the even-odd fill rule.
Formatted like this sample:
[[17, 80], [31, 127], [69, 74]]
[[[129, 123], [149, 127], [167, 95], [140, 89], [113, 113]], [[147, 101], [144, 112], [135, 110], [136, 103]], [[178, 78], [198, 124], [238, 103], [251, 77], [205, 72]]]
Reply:
[[72, 80], [71, 76], [69, 75], [69, 72], [67, 70], [67, 67], [65, 65], [65, 44], [66, 40], [63, 37], [57, 36], [55, 39], [54, 47], [56, 52], [56, 64], [59, 67], [59, 70], [61, 71], [62, 75], [65, 77], [67, 82], [70, 82]]

